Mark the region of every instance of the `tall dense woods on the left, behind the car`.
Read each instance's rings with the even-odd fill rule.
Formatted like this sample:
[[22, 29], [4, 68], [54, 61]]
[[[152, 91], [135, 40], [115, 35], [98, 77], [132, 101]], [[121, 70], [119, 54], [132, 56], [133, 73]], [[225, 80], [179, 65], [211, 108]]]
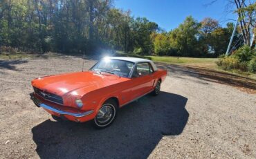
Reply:
[[0, 44], [19, 50], [95, 53], [100, 49], [153, 50], [158, 28], [113, 7], [111, 0], [2, 0]]

